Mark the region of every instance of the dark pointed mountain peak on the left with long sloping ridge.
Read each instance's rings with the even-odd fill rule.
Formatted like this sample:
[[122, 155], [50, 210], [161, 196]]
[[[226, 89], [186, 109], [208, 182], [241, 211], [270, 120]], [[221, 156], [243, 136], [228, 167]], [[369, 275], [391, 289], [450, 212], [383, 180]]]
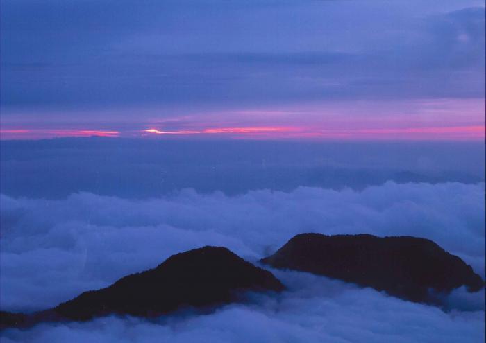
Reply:
[[239, 301], [241, 291], [276, 291], [284, 286], [224, 247], [176, 254], [145, 272], [119, 279], [108, 288], [83, 292], [51, 310], [33, 315], [1, 313], [1, 326], [28, 326], [51, 320], [87, 320], [103, 315], [151, 317], [184, 307], [210, 308]]

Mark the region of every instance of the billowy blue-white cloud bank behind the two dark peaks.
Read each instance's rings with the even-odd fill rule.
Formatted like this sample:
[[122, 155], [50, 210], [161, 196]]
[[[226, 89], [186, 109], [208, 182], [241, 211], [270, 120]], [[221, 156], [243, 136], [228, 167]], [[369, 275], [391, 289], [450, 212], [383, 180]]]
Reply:
[[484, 277], [484, 193], [484, 184], [387, 182], [363, 191], [301, 187], [234, 197], [191, 189], [145, 200], [2, 195], [2, 307], [47, 308], [202, 245], [255, 261], [301, 232], [430, 238]]

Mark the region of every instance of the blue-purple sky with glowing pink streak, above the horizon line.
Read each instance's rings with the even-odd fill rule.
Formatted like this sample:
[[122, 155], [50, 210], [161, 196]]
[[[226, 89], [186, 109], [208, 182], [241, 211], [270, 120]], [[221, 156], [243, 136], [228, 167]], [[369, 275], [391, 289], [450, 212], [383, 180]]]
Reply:
[[1, 139], [485, 138], [484, 1], [1, 3]]

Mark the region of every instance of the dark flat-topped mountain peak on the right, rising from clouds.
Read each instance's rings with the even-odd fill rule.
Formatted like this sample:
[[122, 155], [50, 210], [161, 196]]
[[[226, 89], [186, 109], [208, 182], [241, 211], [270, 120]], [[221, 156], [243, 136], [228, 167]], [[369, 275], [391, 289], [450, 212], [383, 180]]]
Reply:
[[458, 256], [431, 240], [409, 236], [299, 234], [261, 262], [385, 290], [417, 302], [433, 302], [429, 290], [447, 293], [465, 285], [475, 292], [485, 285]]

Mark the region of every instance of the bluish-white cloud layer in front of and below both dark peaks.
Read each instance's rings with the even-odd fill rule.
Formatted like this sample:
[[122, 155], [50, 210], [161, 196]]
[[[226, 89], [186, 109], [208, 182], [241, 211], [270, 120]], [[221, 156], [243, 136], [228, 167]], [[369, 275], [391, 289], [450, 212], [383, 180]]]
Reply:
[[210, 315], [147, 322], [106, 317], [87, 323], [10, 329], [2, 342], [484, 342], [484, 311], [444, 313], [370, 288], [300, 272], [276, 272], [290, 290]]

